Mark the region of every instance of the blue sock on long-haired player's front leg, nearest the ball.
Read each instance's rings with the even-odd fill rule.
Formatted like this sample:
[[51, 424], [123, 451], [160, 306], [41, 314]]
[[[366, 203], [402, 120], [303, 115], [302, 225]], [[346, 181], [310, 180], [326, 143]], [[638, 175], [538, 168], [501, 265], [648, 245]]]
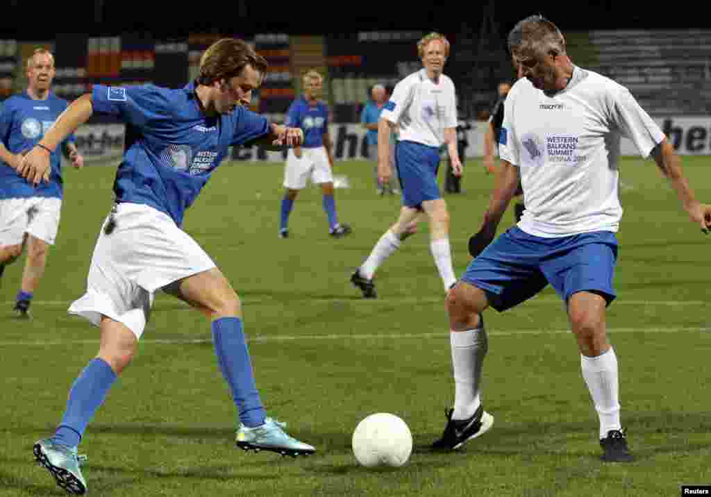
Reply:
[[215, 319], [212, 327], [218, 364], [232, 390], [232, 399], [235, 400], [240, 413], [240, 422], [250, 428], [259, 426], [264, 423], [267, 413], [264, 412], [260, 394], [257, 392], [250, 351], [247, 350], [245, 335], [242, 333], [242, 320]]

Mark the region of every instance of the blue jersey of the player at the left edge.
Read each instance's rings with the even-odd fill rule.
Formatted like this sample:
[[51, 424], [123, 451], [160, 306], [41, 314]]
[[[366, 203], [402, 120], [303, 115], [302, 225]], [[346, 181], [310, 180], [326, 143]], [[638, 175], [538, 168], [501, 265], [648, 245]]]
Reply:
[[[68, 102], [50, 92], [45, 100], [34, 100], [27, 92], [5, 100], [0, 110], [0, 141], [13, 154], [30, 151], [64, 112]], [[0, 198], [58, 197], [62, 198], [63, 180], [61, 151], [70, 135], [50, 154], [49, 183], [34, 187], [10, 166], [0, 161]]]

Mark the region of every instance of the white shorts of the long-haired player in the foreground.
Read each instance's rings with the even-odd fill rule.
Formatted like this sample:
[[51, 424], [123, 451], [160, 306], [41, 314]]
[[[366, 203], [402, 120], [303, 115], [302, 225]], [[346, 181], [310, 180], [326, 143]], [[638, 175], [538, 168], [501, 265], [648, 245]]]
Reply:
[[116, 227], [104, 221], [94, 248], [87, 292], [69, 308], [99, 326], [102, 314], [141, 338], [156, 290], [215, 267], [198, 242], [148, 205], [119, 203]]

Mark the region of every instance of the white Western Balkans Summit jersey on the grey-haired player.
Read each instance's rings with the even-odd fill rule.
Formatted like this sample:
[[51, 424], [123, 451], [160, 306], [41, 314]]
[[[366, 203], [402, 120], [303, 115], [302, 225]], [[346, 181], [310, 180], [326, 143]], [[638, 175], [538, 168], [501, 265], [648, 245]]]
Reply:
[[615, 233], [622, 136], [643, 157], [664, 139], [626, 87], [577, 67], [555, 95], [518, 80], [506, 98], [499, 154], [520, 167], [519, 228], [539, 237]]

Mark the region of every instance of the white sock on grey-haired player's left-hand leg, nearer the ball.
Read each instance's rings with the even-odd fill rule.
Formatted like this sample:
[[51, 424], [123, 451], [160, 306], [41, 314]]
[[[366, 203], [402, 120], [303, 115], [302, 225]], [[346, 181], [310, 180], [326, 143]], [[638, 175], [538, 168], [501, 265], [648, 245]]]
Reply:
[[454, 369], [452, 419], [467, 419], [481, 405], [481, 367], [488, 350], [483, 321], [479, 328], [450, 331], [451, 363]]

